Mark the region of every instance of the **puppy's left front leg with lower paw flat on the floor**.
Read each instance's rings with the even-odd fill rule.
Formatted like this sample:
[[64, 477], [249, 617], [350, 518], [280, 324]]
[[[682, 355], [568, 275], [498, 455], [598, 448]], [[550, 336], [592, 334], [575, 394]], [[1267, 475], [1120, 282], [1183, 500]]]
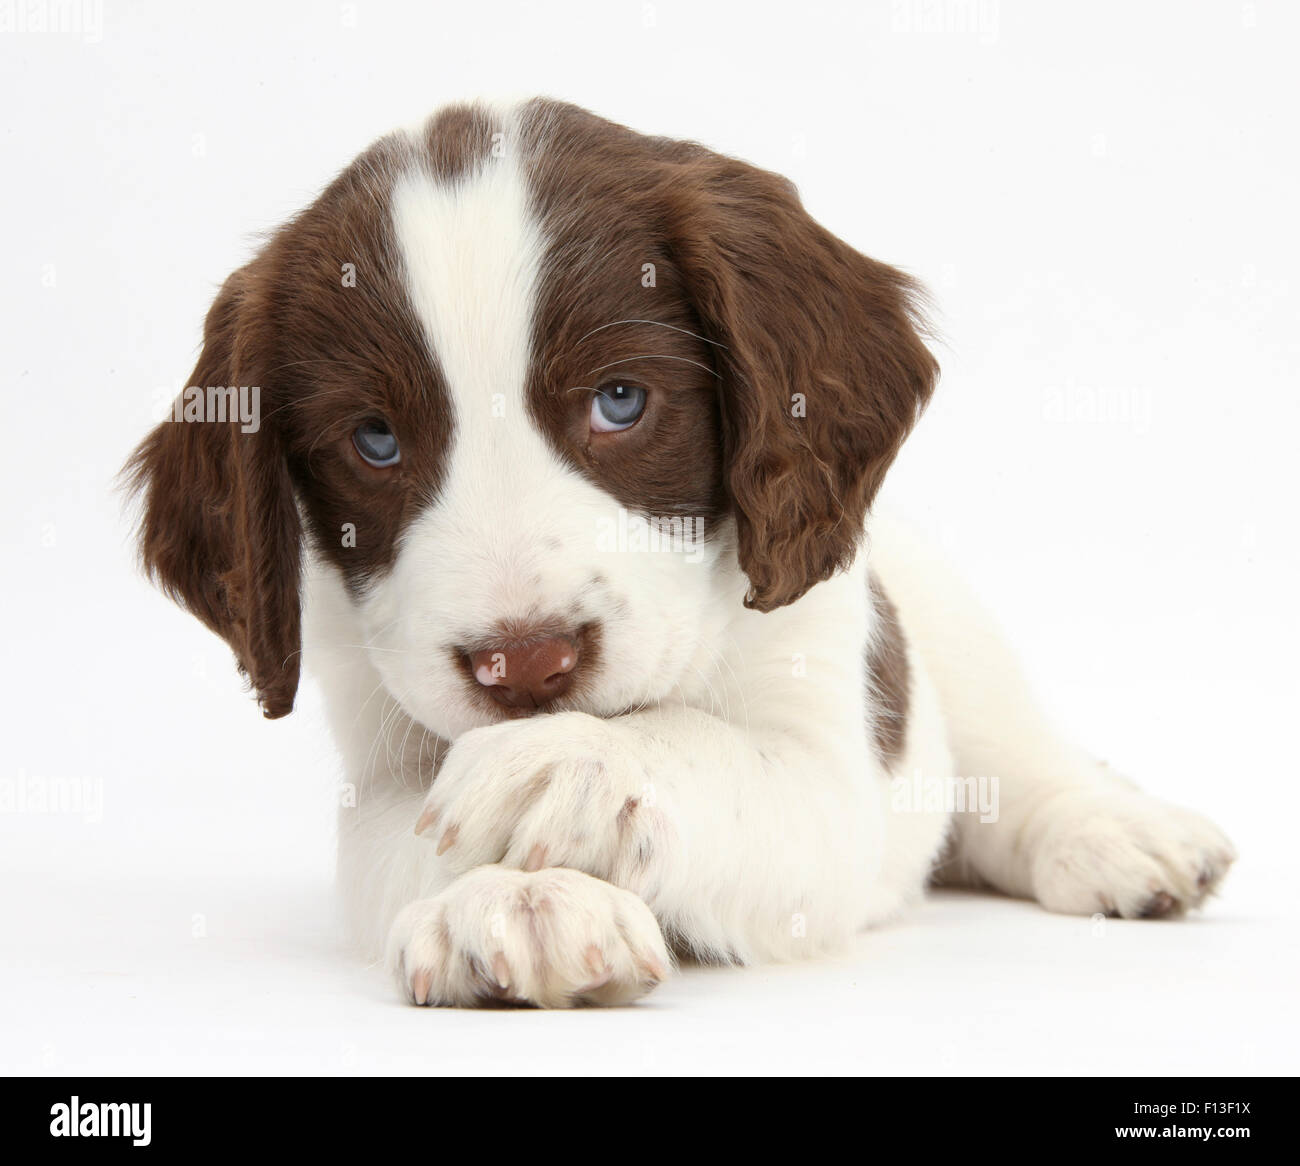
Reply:
[[385, 953], [407, 1000], [625, 1004], [664, 979], [671, 963], [659, 926], [628, 890], [559, 868], [481, 866], [456, 877], [412, 831], [429, 785], [410, 760], [404, 780], [381, 767], [351, 786], [338, 866], [354, 936]]

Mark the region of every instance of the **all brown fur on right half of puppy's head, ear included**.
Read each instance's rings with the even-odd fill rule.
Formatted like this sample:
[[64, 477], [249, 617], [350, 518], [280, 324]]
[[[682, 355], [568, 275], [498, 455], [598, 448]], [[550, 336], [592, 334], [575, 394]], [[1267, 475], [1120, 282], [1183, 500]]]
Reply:
[[[551, 242], [534, 415], [629, 507], [733, 515], [746, 603], [792, 603], [852, 562], [933, 389], [918, 289], [818, 226], [777, 174], [554, 101], [523, 123]], [[611, 373], [650, 404], [593, 438], [576, 390]]]

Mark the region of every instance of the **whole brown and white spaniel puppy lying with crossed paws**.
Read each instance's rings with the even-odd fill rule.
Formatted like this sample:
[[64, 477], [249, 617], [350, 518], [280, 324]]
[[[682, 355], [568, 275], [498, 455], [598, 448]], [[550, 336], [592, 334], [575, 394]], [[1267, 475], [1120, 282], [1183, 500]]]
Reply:
[[916, 300], [786, 179], [550, 100], [384, 138], [226, 281], [130, 464], [143, 562], [266, 716], [312, 668], [408, 1001], [625, 1002], [932, 880], [1218, 885], [1223, 835], [1063, 742], [871, 516], [937, 376]]

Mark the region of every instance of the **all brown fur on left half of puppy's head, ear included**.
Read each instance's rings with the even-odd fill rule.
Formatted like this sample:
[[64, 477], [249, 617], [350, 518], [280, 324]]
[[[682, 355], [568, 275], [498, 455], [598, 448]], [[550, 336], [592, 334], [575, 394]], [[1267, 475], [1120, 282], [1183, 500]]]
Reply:
[[[408, 304], [389, 203], [421, 166], [454, 178], [486, 156], [486, 116], [433, 118], [422, 139], [360, 155], [222, 286], [190, 383], [257, 386], [260, 425], [159, 425], [127, 465], [144, 497], [152, 577], [234, 649], [268, 716], [299, 676], [299, 504], [306, 533], [354, 591], [393, 563], [434, 495], [451, 439], [446, 386]], [[374, 469], [352, 433], [380, 420], [400, 461]]]

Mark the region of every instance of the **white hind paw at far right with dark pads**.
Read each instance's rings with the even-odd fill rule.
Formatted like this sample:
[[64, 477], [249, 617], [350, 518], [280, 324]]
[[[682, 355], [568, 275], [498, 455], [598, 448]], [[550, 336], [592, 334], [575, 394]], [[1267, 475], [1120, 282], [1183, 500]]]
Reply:
[[1037, 844], [1034, 896], [1071, 915], [1182, 915], [1217, 890], [1236, 858], [1210, 822], [1138, 793], [1071, 793]]

